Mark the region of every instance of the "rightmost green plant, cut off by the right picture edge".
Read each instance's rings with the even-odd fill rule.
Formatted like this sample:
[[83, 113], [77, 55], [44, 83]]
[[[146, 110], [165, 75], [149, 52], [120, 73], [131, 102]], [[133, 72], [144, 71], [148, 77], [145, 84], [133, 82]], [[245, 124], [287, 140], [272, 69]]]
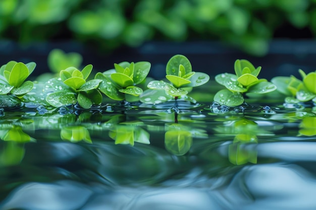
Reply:
[[316, 103], [316, 71], [310, 72], [307, 75], [301, 69], [298, 72], [303, 80], [290, 76], [274, 77], [271, 82], [276, 85], [277, 91], [287, 96], [287, 102], [306, 102], [312, 100]]

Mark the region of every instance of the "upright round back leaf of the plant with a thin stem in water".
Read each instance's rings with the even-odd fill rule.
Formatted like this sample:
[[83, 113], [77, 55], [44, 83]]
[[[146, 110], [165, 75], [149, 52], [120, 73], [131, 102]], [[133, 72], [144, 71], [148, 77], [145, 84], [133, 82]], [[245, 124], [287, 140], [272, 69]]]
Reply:
[[189, 59], [184, 55], [174, 55], [170, 58], [166, 66], [167, 75], [179, 75], [179, 66], [182, 64], [185, 68], [185, 74], [192, 72], [192, 65]]

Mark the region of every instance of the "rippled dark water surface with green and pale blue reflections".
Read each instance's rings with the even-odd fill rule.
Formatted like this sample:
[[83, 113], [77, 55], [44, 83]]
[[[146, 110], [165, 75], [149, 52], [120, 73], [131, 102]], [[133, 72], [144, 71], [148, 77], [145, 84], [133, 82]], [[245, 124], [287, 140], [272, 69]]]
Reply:
[[303, 106], [3, 110], [0, 209], [315, 209]]

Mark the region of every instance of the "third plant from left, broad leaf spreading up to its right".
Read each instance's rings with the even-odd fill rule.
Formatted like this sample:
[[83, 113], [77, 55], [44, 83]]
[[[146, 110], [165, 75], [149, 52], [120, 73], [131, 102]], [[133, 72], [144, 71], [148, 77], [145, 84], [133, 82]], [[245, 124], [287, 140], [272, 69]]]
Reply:
[[95, 75], [95, 79], [102, 81], [98, 90], [116, 101], [125, 100], [126, 94], [139, 96], [143, 90], [136, 85], [145, 81], [150, 66], [147, 61], [115, 63], [115, 69]]

